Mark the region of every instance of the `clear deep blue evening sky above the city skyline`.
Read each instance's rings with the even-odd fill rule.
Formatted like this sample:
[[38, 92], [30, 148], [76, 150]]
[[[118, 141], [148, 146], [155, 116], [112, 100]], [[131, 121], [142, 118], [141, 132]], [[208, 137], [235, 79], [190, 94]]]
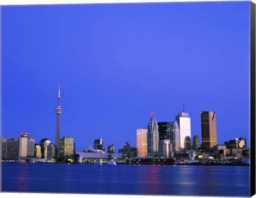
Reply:
[[183, 110], [201, 137], [216, 111], [218, 143], [249, 140], [250, 2], [2, 6], [2, 136], [27, 132], [77, 151], [136, 147], [155, 112]]

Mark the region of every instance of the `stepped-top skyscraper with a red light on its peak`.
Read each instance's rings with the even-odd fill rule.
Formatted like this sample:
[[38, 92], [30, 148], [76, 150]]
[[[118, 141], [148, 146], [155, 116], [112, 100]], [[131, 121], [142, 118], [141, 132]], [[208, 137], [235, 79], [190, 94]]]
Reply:
[[148, 147], [148, 156], [157, 157], [158, 154], [158, 141], [159, 141], [159, 132], [156, 118], [154, 113], [151, 113], [152, 117], [148, 123], [148, 132], [147, 132], [147, 147]]

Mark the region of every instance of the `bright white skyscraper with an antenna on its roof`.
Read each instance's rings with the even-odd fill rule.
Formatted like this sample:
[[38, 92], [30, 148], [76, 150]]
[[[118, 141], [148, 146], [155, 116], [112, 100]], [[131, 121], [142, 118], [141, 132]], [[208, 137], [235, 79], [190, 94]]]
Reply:
[[189, 136], [191, 140], [191, 126], [189, 114], [185, 113], [184, 111], [175, 114], [175, 121], [177, 121], [180, 130], [180, 149], [184, 150], [187, 147], [187, 141], [185, 140], [185, 137]]

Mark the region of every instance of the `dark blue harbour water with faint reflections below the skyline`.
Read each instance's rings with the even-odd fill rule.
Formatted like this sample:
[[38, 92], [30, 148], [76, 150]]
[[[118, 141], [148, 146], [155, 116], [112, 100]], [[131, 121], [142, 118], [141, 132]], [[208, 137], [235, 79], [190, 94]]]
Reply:
[[3, 192], [249, 196], [249, 166], [2, 163]]

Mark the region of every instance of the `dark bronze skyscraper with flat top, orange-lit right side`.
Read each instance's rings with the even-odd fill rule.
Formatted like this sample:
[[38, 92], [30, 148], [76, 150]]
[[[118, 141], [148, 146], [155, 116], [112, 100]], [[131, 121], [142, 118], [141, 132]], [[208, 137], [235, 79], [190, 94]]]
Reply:
[[206, 150], [217, 145], [217, 125], [215, 111], [201, 111], [202, 144]]

